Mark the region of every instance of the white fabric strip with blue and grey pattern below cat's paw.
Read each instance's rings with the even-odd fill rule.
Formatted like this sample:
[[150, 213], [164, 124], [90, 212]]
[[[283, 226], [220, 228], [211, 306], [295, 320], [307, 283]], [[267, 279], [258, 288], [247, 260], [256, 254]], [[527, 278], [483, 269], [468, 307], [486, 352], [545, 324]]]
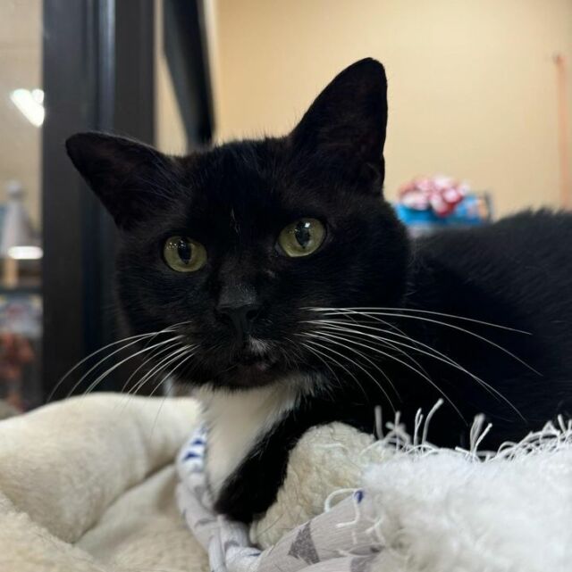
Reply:
[[213, 510], [206, 486], [206, 430], [199, 428], [177, 459], [177, 503], [190, 531], [208, 552], [215, 572], [366, 572], [382, 550], [372, 503], [363, 490], [298, 526], [271, 548], [260, 551], [248, 526]]

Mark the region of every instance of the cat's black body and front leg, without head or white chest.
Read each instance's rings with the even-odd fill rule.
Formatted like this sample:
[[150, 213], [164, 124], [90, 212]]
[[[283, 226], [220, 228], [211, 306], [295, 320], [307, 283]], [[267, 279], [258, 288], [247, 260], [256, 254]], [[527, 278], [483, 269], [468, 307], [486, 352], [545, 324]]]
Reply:
[[[423, 367], [464, 418], [444, 402], [432, 419], [428, 436], [433, 443], [468, 447], [469, 427], [479, 413], [492, 422], [482, 448], [518, 440], [558, 414], [572, 417], [571, 245], [572, 215], [548, 211], [521, 213], [485, 228], [442, 232], [414, 244], [403, 307], [424, 312], [403, 311], [402, 318], [378, 314], [375, 317], [390, 321], [402, 333], [462, 364], [493, 388], [488, 391], [467, 373], [424, 353], [409, 352], [415, 356], [416, 368]], [[561, 294], [558, 299], [553, 296], [555, 291]], [[504, 325], [526, 334], [425, 311]], [[422, 320], [419, 322], [415, 316]], [[425, 319], [467, 329], [488, 342]], [[339, 320], [338, 317], [335, 321]], [[374, 321], [366, 323], [368, 327], [375, 326]], [[341, 327], [360, 329], [351, 324]], [[376, 334], [370, 329], [363, 331], [368, 336]], [[335, 334], [335, 330], [329, 333]], [[348, 336], [348, 332], [338, 333]], [[374, 346], [372, 338], [354, 337], [354, 341]], [[364, 346], [357, 344], [353, 347], [363, 352]], [[341, 351], [340, 346], [332, 347]], [[429, 353], [423, 346], [419, 350]], [[526, 361], [526, 365], [506, 352]], [[365, 353], [374, 359], [374, 352]], [[401, 401], [391, 395], [387, 386], [384, 389], [411, 430], [416, 410], [422, 408], [426, 414], [442, 394], [409, 367], [414, 365], [412, 362], [399, 352], [395, 355], [409, 365], [384, 363], [383, 371], [397, 386]], [[351, 357], [356, 359], [357, 355]], [[360, 363], [367, 367], [366, 361]], [[369, 371], [383, 382], [379, 372], [373, 368]], [[241, 466], [229, 474], [226, 487], [220, 492], [219, 510], [247, 521], [264, 511], [282, 483], [287, 461], [284, 452], [296, 444], [307, 428], [341, 420], [374, 433], [374, 404], [382, 405], [383, 419], [393, 420], [391, 405], [374, 380], [359, 369], [353, 373], [357, 382], [348, 375], [348, 383], [336, 388], [332, 401], [328, 395], [314, 395], [302, 398], [298, 407], [289, 412], [275, 412], [273, 427], [265, 427], [258, 434], [257, 442], [243, 451]], [[227, 395], [226, 399], [228, 409], [234, 409], [233, 397]]]

